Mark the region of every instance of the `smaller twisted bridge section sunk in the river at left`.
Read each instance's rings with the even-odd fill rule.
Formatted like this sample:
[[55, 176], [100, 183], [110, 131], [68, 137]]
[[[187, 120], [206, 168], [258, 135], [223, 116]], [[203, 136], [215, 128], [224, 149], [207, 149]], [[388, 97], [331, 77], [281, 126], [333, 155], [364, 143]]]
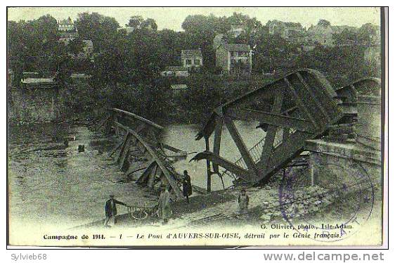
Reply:
[[[109, 156], [115, 155], [119, 169], [124, 170], [127, 176], [143, 170], [136, 180], [137, 184], [149, 188], [167, 186], [173, 199], [183, 198], [182, 175], [171, 165], [174, 155], [168, 155], [165, 149], [176, 153], [175, 156], [186, 153], [160, 142], [160, 135], [164, 129], [162, 126], [134, 113], [112, 108], [108, 110], [108, 117], [101, 127], [105, 127], [108, 132], [114, 131], [116, 136], [122, 138], [122, 141], [110, 151]], [[139, 169], [129, 168], [129, 164], [136, 159], [147, 160], [147, 165]]]

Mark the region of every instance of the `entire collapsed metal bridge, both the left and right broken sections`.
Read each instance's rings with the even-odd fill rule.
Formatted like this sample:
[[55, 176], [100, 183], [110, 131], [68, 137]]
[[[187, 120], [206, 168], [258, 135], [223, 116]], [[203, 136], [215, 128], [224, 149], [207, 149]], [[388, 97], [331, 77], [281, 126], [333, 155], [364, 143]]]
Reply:
[[[227, 175], [233, 179], [233, 184], [265, 184], [280, 169], [299, 165], [294, 159], [303, 152], [306, 140], [354, 136], [357, 90], [377, 90], [377, 86], [380, 87], [380, 80], [365, 78], [335, 90], [320, 72], [296, 70], [219, 105], [196, 136], [197, 140], [205, 138], [205, 151], [191, 160], [206, 160], [208, 192], [213, 174], [221, 179]], [[247, 148], [235, 120], [259, 122], [257, 129], [264, 130], [266, 136]], [[162, 126], [134, 113], [112, 108], [101, 127], [122, 138], [109, 155], [116, 156], [119, 168], [127, 176], [143, 170], [136, 183], [149, 188], [168, 186], [172, 198], [183, 198], [183, 176], [176, 172], [173, 163], [174, 158], [186, 158], [188, 153], [162, 143]], [[221, 156], [224, 127], [240, 152], [235, 162]], [[213, 134], [214, 146], [210, 151], [209, 138]], [[145, 160], [144, 167], [129, 167], [133, 158]], [[197, 186], [193, 188], [207, 193]]]

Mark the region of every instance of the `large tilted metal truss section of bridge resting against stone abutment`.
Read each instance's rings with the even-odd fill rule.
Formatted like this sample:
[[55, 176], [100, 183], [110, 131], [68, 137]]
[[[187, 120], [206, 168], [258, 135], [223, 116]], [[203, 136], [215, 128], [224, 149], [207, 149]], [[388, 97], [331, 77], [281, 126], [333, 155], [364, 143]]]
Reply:
[[[304, 150], [304, 143], [327, 134], [352, 135], [356, 122], [356, 85], [377, 79], [362, 79], [338, 91], [317, 70], [300, 69], [255, 89], [214, 110], [196, 139], [205, 139], [206, 149], [193, 160], [207, 160], [207, 190], [212, 174], [226, 174], [234, 183], [265, 184], [273, 174]], [[235, 120], [257, 121], [266, 136], [248, 149]], [[231, 162], [221, 157], [221, 132], [225, 126], [240, 152]], [[214, 134], [210, 150], [209, 138]], [[211, 168], [212, 166], [212, 168]], [[220, 169], [221, 167], [221, 169]]]

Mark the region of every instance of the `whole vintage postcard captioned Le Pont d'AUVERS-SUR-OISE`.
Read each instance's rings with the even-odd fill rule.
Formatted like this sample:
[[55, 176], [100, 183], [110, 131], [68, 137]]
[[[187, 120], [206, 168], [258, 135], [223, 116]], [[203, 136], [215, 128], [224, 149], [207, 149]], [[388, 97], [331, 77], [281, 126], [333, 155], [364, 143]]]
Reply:
[[8, 245], [382, 245], [384, 14], [8, 7]]

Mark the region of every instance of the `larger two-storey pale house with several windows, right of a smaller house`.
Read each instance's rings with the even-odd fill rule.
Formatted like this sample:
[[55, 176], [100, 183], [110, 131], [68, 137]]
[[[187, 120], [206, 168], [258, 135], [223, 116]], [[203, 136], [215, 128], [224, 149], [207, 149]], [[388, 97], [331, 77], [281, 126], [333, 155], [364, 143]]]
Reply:
[[223, 72], [252, 71], [252, 49], [247, 44], [221, 44], [215, 54], [216, 67], [221, 68]]

